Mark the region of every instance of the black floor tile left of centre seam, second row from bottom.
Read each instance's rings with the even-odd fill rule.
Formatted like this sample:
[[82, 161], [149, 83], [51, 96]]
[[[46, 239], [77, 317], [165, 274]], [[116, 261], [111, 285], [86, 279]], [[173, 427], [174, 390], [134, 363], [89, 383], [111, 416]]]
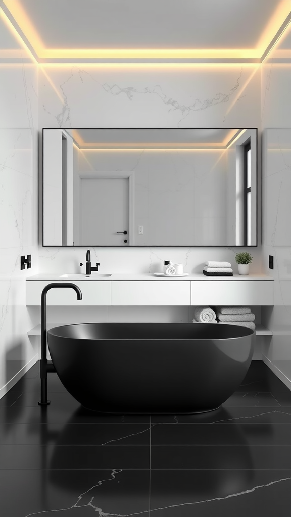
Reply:
[[150, 447], [142, 445], [0, 445], [0, 469], [149, 468]]

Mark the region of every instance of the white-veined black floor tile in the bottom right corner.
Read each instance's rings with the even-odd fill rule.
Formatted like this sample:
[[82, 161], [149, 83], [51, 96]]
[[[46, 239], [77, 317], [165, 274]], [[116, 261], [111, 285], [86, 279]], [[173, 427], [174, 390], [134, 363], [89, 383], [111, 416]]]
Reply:
[[288, 517], [291, 470], [152, 470], [155, 517]]

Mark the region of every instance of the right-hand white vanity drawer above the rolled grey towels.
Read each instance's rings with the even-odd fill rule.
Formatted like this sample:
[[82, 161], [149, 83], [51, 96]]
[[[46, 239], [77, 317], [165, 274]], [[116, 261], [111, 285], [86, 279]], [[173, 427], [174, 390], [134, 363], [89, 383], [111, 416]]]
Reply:
[[191, 305], [274, 305], [272, 280], [191, 282]]

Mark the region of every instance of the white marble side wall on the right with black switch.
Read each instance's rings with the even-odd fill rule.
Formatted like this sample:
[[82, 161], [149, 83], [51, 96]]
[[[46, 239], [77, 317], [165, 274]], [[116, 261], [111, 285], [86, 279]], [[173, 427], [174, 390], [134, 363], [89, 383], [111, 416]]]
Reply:
[[[266, 342], [264, 355], [291, 387], [291, 68], [290, 59], [278, 63], [280, 48], [289, 49], [290, 55], [291, 27], [262, 66], [262, 264], [275, 278], [275, 306], [264, 315], [273, 338]], [[269, 255], [274, 257], [273, 270]]]

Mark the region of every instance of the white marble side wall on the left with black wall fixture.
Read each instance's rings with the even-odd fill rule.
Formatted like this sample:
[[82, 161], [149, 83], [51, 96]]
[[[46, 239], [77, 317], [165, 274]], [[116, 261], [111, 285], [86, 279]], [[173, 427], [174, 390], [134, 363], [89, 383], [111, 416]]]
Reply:
[[[17, 41], [12, 47], [13, 33], [1, 20], [2, 30], [9, 37], [0, 49], [0, 398], [36, 360], [27, 338], [35, 322], [25, 306], [25, 277], [38, 271], [38, 70]], [[11, 47], [19, 48], [17, 62], [1, 59]], [[27, 254], [32, 268], [20, 270]]]

